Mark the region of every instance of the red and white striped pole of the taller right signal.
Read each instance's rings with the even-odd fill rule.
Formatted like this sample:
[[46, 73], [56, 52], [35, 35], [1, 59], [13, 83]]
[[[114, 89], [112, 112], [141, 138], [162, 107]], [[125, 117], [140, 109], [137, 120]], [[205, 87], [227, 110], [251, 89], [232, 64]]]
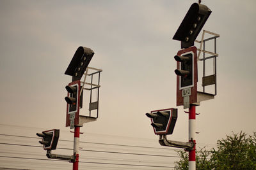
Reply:
[[190, 104], [189, 106], [189, 133], [188, 138], [189, 141], [191, 141], [191, 138], [193, 139], [194, 148], [193, 150], [189, 150], [189, 156], [188, 156], [188, 169], [189, 170], [195, 170], [196, 169], [196, 140], [195, 140], [195, 134], [196, 134], [196, 106]]

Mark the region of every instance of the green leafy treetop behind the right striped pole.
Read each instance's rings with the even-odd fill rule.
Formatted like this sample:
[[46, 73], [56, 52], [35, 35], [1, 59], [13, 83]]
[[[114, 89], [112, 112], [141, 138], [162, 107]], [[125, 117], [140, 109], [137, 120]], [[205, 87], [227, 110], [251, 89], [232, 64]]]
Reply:
[[[175, 169], [188, 169], [188, 152], [179, 150]], [[232, 134], [217, 141], [217, 148], [196, 150], [196, 169], [256, 169], [256, 132]]]

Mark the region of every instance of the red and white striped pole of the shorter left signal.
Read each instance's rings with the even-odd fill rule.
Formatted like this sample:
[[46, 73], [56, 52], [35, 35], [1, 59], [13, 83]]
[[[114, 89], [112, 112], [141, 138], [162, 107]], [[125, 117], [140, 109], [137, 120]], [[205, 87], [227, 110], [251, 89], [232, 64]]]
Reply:
[[73, 162], [73, 170], [78, 170], [78, 162], [79, 162], [79, 134], [80, 127], [75, 126], [74, 132], [74, 154], [76, 154], [76, 161]]

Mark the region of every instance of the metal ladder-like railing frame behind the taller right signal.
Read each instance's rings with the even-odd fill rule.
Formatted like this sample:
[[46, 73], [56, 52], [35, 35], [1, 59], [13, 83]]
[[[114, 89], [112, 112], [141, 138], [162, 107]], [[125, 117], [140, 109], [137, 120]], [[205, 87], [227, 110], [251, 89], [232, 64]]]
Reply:
[[[204, 39], [205, 33], [211, 34], [212, 37]], [[197, 49], [199, 51], [198, 55], [197, 55], [197, 60], [203, 61], [203, 79], [207, 77], [207, 76], [205, 76], [205, 60], [208, 60], [208, 59], [213, 59], [214, 60], [214, 62], [213, 62], [214, 63], [214, 67], [213, 67], [213, 69], [214, 69], [213, 73], [214, 74], [212, 74], [211, 77], [209, 77], [209, 78], [214, 78], [214, 83], [207, 84], [207, 85], [214, 85], [214, 91], [215, 91], [214, 94], [213, 94], [214, 96], [217, 95], [217, 72], [216, 72], [216, 64], [217, 63], [216, 63], [216, 57], [218, 57], [219, 54], [217, 53], [217, 50], [216, 50], [216, 39], [219, 38], [219, 37], [220, 37], [220, 34], [216, 34], [214, 32], [210, 32], [210, 31], [204, 30], [203, 34], [202, 34], [201, 41], [195, 40], [196, 43], [200, 43], [200, 48]], [[212, 39], [214, 39], [214, 52], [206, 51], [205, 50], [205, 42], [206, 41], [210, 41]], [[202, 47], [203, 47], [203, 49], [202, 49]], [[203, 57], [200, 59], [201, 52], [203, 53]], [[205, 53], [207, 53], [207, 54], [209, 54], [211, 56], [205, 57]], [[203, 92], [205, 92], [205, 86], [207, 86], [207, 85], [202, 83]]]

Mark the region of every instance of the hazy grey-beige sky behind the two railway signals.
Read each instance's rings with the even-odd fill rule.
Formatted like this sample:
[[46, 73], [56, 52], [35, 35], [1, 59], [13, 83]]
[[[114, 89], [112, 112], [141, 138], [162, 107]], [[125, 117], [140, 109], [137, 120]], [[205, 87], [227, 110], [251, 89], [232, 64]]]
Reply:
[[[64, 100], [65, 86], [72, 78], [64, 73], [76, 49], [86, 46], [95, 52], [90, 66], [103, 72], [99, 118], [81, 127], [81, 141], [164, 148], [145, 113], [165, 108], [178, 108], [175, 129], [168, 139], [188, 141], [188, 115], [182, 106], [176, 106], [173, 57], [180, 50], [180, 42], [172, 37], [196, 2], [0, 0], [0, 133], [36, 138], [36, 132], [60, 129], [60, 139], [73, 140], [69, 127], [65, 127]], [[212, 10], [203, 29], [220, 34], [218, 94], [196, 107], [196, 113], [200, 113], [196, 117], [196, 131], [200, 132], [196, 134], [196, 143], [200, 147], [214, 147], [218, 139], [232, 132], [256, 131], [256, 1], [203, 0], [202, 4]], [[201, 36], [202, 32], [197, 39]], [[212, 43], [209, 50], [212, 51]], [[211, 69], [210, 62], [207, 73]], [[198, 62], [198, 71], [202, 73], [202, 62]], [[86, 106], [81, 111], [86, 113]], [[38, 139], [29, 141], [30, 145], [40, 146]], [[12, 143], [11, 138], [2, 140], [1, 143]], [[72, 148], [72, 143], [68, 146]], [[6, 147], [0, 144], [1, 150]], [[47, 159], [42, 148], [36, 148], [36, 153]], [[4, 154], [7, 153], [0, 153]], [[97, 153], [93, 156], [99, 157]], [[40, 169], [19, 163], [21, 160], [15, 164], [12, 161], [1, 157], [0, 167], [19, 164]], [[173, 166], [171, 162], [168, 166]], [[71, 164], [61, 163], [71, 168]]]

